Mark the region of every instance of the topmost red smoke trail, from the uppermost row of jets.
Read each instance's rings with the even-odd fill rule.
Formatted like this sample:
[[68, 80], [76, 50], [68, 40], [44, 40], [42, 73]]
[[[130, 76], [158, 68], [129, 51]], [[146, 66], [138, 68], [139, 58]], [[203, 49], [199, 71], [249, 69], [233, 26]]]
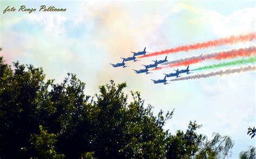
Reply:
[[190, 50], [197, 50], [197, 49], [205, 49], [207, 47], [214, 47], [214, 46], [220, 46], [225, 44], [237, 44], [241, 42], [252, 42], [252, 40], [256, 39], [256, 32], [245, 34], [245, 35], [239, 35], [239, 36], [230, 36], [227, 38], [221, 38], [217, 40], [211, 40], [204, 43], [196, 43], [192, 45], [183, 45], [174, 47], [172, 49], [159, 51], [159, 52], [152, 52], [149, 54], [145, 54], [144, 56], [138, 57], [138, 58], [145, 58], [145, 57], [152, 57], [152, 56], [158, 56], [162, 54], [170, 54], [170, 53], [176, 53], [181, 51], [190, 51]]

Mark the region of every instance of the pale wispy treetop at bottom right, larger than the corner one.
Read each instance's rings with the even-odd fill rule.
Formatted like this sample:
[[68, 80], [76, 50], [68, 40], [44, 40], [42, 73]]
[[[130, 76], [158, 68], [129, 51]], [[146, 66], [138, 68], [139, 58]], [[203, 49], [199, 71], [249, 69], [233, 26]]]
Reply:
[[221, 136], [213, 133], [213, 139], [202, 143], [196, 158], [225, 158], [231, 153], [234, 141], [229, 136]]

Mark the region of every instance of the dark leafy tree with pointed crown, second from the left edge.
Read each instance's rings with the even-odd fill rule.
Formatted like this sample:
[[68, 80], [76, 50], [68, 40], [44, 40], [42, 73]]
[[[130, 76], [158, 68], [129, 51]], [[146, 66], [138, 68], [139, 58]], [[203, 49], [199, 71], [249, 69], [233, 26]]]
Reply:
[[[90, 126], [93, 120], [88, 110], [89, 96], [84, 94], [85, 83], [80, 81], [75, 74], [68, 73], [62, 83], [51, 84], [48, 99], [51, 103], [41, 110], [45, 127], [53, 133], [59, 133], [57, 147], [66, 158], [79, 158], [80, 154], [91, 151]], [[53, 111], [52, 111], [52, 110]]]

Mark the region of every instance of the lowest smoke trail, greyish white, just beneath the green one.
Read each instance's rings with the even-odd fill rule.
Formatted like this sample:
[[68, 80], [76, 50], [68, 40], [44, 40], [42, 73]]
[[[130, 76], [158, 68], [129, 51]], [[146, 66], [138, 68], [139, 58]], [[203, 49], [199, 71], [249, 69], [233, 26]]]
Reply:
[[207, 78], [207, 77], [213, 77], [216, 75], [227, 75], [227, 74], [232, 74], [232, 73], [240, 73], [240, 72], [247, 72], [247, 71], [256, 71], [256, 66], [244, 66], [240, 68], [232, 68], [232, 69], [227, 69], [227, 70], [220, 70], [217, 72], [210, 72], [210, 73], [201, 73], [201, 74], [195, 74], [195, 75], [190, 75], [187, 77], [181, 77], [177, 79], [172, 79], [170, 81], [180, 81], [180, 80], [188, 80], [188, 79], [199, 79], [199, 78]]

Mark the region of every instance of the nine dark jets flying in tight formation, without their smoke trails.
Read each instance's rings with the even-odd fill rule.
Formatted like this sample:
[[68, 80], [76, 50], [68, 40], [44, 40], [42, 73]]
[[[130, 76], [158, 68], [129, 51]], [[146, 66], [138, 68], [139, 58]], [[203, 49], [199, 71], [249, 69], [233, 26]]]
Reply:
[[[137, 58], [136, 58], [137, 56], [145, 56], [145, 54], [147, 53], [146, 52], [146, 47], [144, 48], [143, 51], [132, 52], [132, 53], [133, 53], [132, 57], [122, 58], [123, 59], [122, 63], [110, 64], [110, 65], [112, 65], [113, 67], [123, 67], [123, 68], [129, 67], [125, 64], [125, 61], [134, 61], [134, 62], [138, 61]], [[143, 65], [145, 67], [144, 69], [133, 70], [133, 71], [135, 71], [135, 73], [137, 73], [137, 74], [139, 74], [139, 73], [149, 74], [149, 73], [152, 73], [152, 72], [149, 72], [150, 71], [149, 68], [158, 68], [158, 65], [166, 63], [168, 60], [167, 60], [167, 56], [166, 56], [164, 60], [152, 60], [152, 61], [154, 62], [153, 64]], [[153, 81], [154, 84], [161, 84], [161, 83], [163, 83], [164, 85], [170, 84], [170, 83], [167, 83], [167, 80], [166, 80], [167, 77], [176, 77], [176, 78], [178, 78], [178, 77], [180, 77], [179, 74], [181, 74], [181, 73], [190, 74], [191, 70], [189, 70], [188, 67], [189, 66], [187, 66], [186, 70], [180, 70], [180, 71], [179, 71], [179, 69], [174, 70], [174, 71], [176, 71], [175, 73], [170, 73], [170, 74], [165, 74], [164, 73], [165, 74], [164, 79], [158, 79], [158, 80], [151, 79], [151, 80]]]

